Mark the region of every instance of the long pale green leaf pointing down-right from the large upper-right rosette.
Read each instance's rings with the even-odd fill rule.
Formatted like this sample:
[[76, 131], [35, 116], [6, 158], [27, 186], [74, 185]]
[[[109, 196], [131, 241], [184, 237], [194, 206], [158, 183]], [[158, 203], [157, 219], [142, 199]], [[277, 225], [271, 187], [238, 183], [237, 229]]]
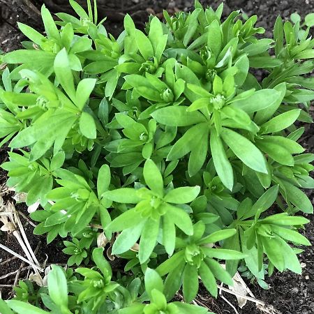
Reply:
[[257, 172], [267, 173], [265, 158], [251, 141], [228, 128], [223, 128], [221, 136], [234, 154], [245, 165]]

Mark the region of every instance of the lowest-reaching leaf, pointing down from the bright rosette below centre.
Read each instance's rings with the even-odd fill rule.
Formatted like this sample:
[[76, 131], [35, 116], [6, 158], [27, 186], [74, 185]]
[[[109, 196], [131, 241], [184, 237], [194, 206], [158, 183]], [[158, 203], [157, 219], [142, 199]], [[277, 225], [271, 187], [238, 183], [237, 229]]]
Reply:
[[151, 256], [153, 252], [159, 232], [159, 221], [160, 217], [156, 220], [152, 218], [148, 218], [144, 228], [142, 230], [142, 235], [140, 239], [140, 250], [138, 254], [138, 258], [141, 264], [144, 264]]

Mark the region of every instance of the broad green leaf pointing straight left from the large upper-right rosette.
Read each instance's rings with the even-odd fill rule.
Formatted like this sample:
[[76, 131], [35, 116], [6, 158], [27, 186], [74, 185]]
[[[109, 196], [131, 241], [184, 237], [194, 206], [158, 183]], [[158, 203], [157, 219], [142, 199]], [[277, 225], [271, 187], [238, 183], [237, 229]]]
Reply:
[[187, 112], [187, 108], [184, 106], [164, 107], [153, 112], [151, 116], [166, 126], [191, 126], [206, 121], [200, 112]]

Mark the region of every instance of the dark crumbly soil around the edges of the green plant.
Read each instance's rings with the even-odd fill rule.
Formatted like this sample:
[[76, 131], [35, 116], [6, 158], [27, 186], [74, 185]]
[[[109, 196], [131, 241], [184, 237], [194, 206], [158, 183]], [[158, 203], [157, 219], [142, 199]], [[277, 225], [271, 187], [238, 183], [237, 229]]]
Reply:
[[[80, 3], [85, 3], [80, 0]], [[170, 13], [178, 10], [190, 10], [193, 7], [193, 0], [98, 0], [100, 15], [107, 16], [105, 26], [107, 31], [117, 36], [123, 27], [123, 18], [126, 13], [132, 15], [137, 27], [143, 28], [147, 17], [150, 14], [162, 17], [163, 9], [167, 9]], [[221, 1], [202, 0], [203, 4], [216, 8]], [[291, 13], [297, 12], [302, 17], [307, 13], [314, 12], [314, 0], [223, 0], [225, 10], [224, 15], [228, 15], [232, 10], [241, 9], [248, 16], [257, 15], [259, 17], [258, 25], [267, 29], [266, 36], [271, 37], [271, 29], [277, 15], [287, 18]], [[33, 6], [25, 6], [25, 3], [33, 3]], [[36, 29], [43, 30], [40, 24], [40, 5], [45, 5], [52, 12], [69, 12], [67, 5], [68, 0], [0, 0], [0, 49], [3, 51], [11, 51], [20, 47], [20, 41], [24, 40], [21, 33], [17, 30], [16, 22], [24, 22], [30, 24]], [[306, 126], [306, 133], [301, 139], [302, 144], [308, 151], [314, 152], [314, 126]], [[0, 164], [6, 158], [6, 151], [0, 150]], [[0, 187], [6, 182], [6, 173], [0, 170]], [[5, 195], [6, 200], [11, 195]], [[313, 200], [314, 192], [309, 191], [308, 196]], [[22, 204], [16, 205], [17, 209], [27, 215], [27, 211]], [[314, 244], [314, 217], [308, 216], [311, 220], [306, 226], [304, 235]], [[35, 250], [38, 247], [36, 256], [40, 262], [48, 257], [47, 263], [64, 263], [67, 257], [61, 252], [60, 241], [54, 241], [53, 244], [47, 246], [45, 237], [34, 237], [32, 234], [33, 227], [29, 225], [27, 220], [22, 219], [22, 223], [27, 232], [29, 242]], [[23, 255], [20, 246], [17, 244], [12, 234], [0, 234], [0, 243], [8, 246], [13, 251]], [[15, 271], [20, 267], [20, 260], [10, 260], [5, 262], [11, 256], [0, 251], [0, 277]], [[307, 247], [304, 253], [301, 253], [300, 260], [303, 263], [303, 273], [301, 276], [285, 272], [283, 274], [276, 273], [267, 279], [270, 285], [269, 290], [262, 290], [258, 285], [248, 283], [257, 299], [273, 306], [276, 312], [282, 314], [310, 314], [314, 313], [314, 248]], [[20, 278], [26, 278], [27, 272], [22, 272]], [[12, 285], [15, 275], [0, 280], [0, 285]], [[3, 297], [12, 297], [11, 288], [3, 288], [0, 286], [0, 292]], [[230, 294], [223, 292], [226, 297], [241, 314], [262, 313], [257, 310], [255, 304], [248, 301], [243, 309], [237, 306], [237, 300]], [[205, 304], [211, 311], [219, 314], [236, 313], [234, 309], [223, 299], [212, 299], [207, 292], [201, 292], [198, 298], [200, 304]]]

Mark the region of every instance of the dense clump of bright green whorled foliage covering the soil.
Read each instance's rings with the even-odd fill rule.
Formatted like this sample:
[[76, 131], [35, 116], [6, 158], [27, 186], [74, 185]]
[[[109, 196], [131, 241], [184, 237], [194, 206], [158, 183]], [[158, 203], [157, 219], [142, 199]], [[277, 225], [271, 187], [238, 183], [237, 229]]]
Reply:
[[[238, 267], [260, 283], [274, 269], [301, 274], [313, 15], [278, 17], [274, 39], [260, 39], [256, 16], [222, 21], [223, 5], [195, 1], [145, 31], [126, 15], [114, 38], [96, 1], [88, 13], [70, 4], [78, 17], [55, 22], [43, 6], [46, 36], [19, 24], [25, 49], [1, 56], [0, 137], [12, 149], [1, 167], [40, 204], [34, 233], [66, 238], [69, 264], [86, 267], [52, 267], [42, 303], [21, 284], [1, 313], [201, 314], [189, 304], [199, 280], [216, 297]], [[186, 303], [172, 302], [181, 288]]]

